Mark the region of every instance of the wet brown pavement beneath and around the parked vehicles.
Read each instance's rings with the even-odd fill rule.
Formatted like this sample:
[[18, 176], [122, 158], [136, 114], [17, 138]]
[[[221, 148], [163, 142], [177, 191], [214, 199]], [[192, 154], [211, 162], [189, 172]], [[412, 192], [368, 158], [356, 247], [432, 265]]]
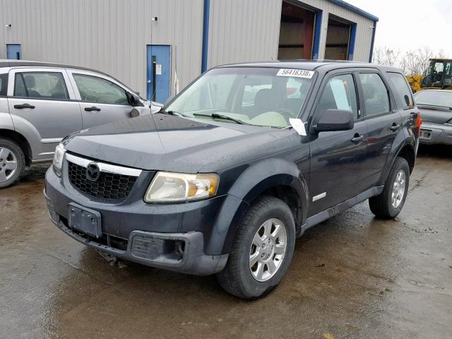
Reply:
[[0, 338], [451, 338], [452, 148], [421, 148], [396, 220], [361, 203], [298, 239], [268, 297], [110, 266], [47, 216], [45, 165], [0, 191]]

